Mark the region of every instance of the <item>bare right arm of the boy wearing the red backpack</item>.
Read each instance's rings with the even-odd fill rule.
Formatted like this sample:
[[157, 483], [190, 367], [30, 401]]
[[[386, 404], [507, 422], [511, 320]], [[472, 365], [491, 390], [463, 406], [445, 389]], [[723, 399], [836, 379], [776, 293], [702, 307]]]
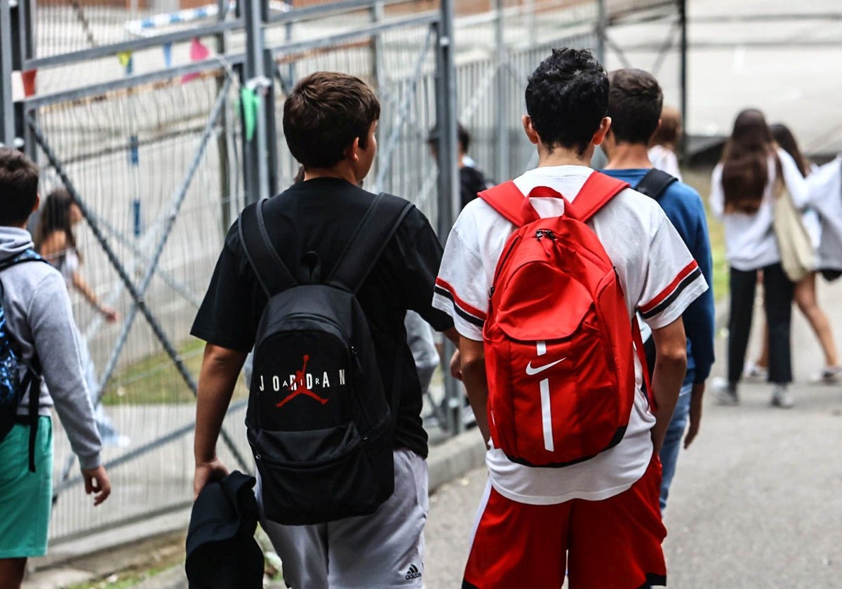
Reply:
[[668, 326], [652, 330], [655, 341], [655, 370], [652, 390], [655, 404], [655, 427], [652, 429], [652, 443], [655, 453], [661, 451], [663, 438], [673, 417], [675, 402], [679, 398], [681, 383], [687, 372], [687, 339], [681, 317]]

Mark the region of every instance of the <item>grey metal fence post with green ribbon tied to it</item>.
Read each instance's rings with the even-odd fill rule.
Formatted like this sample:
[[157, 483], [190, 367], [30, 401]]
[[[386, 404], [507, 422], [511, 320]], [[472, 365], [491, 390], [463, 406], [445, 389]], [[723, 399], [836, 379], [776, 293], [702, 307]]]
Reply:
[[[255, 108], [254, 128], [251, 137], [242, 138], [242, 167], [245, 180], [246, 203], [269, 198], [269, 157], [266, 150], [266, 100], [264, 90], [272, 83], [266, 76], [264, 60], [264, 22], [268, 13], [268, 0], [240, 0], [242, 20], [246, 29], [246, 63], [243, 70], [242, 86], [246, 91], [255, 93], [258, 103]], [[252, 108], [240, 97], [240, 110], [243, 120], [247, 118], [244, 109]], [[245, 125], [243, 125], [245, 127]], [[246, 134], [245, 128], [243, 135]]]

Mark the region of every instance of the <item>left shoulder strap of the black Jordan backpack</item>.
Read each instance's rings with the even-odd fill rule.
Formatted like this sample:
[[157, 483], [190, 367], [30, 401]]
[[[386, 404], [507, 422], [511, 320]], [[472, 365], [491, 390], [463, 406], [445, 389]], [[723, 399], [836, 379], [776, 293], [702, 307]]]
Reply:
[[237, 231], [248, 263], [251, 264], [266, 296], [270, 297], [297, 283], [269, 240], [263, 212], [265, 203], [265, 199], [260, 200], [243, 209], [237, 222]]

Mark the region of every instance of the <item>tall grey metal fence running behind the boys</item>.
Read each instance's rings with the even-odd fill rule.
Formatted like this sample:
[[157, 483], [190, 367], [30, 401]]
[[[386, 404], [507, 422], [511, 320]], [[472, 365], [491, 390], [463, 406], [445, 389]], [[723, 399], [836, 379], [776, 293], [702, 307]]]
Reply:
[[[532, 165], [520, 130], [529, 72], [554, 46], [604, 50], [609, 2], [594, 0], [217, 0], [160, 3], [0, 0], [0, 142], [40, 163], [41, 194], [65, 187], [83, 210], [81, 272], [120, 319], [78, 294], [104, 412], [127, 447], [105, 448], [114, 495], [80, 509], [83, 489], [56, 422], [51, 539], [184, 507], [192, 498], [193, 399], [202, 344], [189, 337], [243, 204], [297, 171], [280, 125], [285, 95], [318, 70], [353, 73], [381, 98], [366, 188], [413, 200], [445, 238], [456, 214], [456, 121], [490, 178]], [[626, 10], [629, 3], [616, 0]], [[673, 10], [675, 2], [643, 3]], [[427, 138], [440, 134], [441, 167]], [[33, 221], [34, 223], [37, 220]], [[445, 379], [450, 401], [460, 392]], [[238, 385], [219, 443], [253, 470]], [[461, 402], [441, 425], [461, 427]]]

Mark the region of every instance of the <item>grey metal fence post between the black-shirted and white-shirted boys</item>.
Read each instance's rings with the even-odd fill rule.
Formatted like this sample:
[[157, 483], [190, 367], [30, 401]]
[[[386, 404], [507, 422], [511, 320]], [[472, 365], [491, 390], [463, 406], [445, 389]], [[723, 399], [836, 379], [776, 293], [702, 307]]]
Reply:
[[[439, 129], [439, 239], [445, 241], [456, 220], [459, 178], [456, 167], [456, 67], [453, 62], [453, 0], [441, 0], [436, 45], [436, 126]], [[448, 431], [462, 430], [461, 386], [450, 376], [453, 344], [445, 340], [442, 367], [445, 373]]]

